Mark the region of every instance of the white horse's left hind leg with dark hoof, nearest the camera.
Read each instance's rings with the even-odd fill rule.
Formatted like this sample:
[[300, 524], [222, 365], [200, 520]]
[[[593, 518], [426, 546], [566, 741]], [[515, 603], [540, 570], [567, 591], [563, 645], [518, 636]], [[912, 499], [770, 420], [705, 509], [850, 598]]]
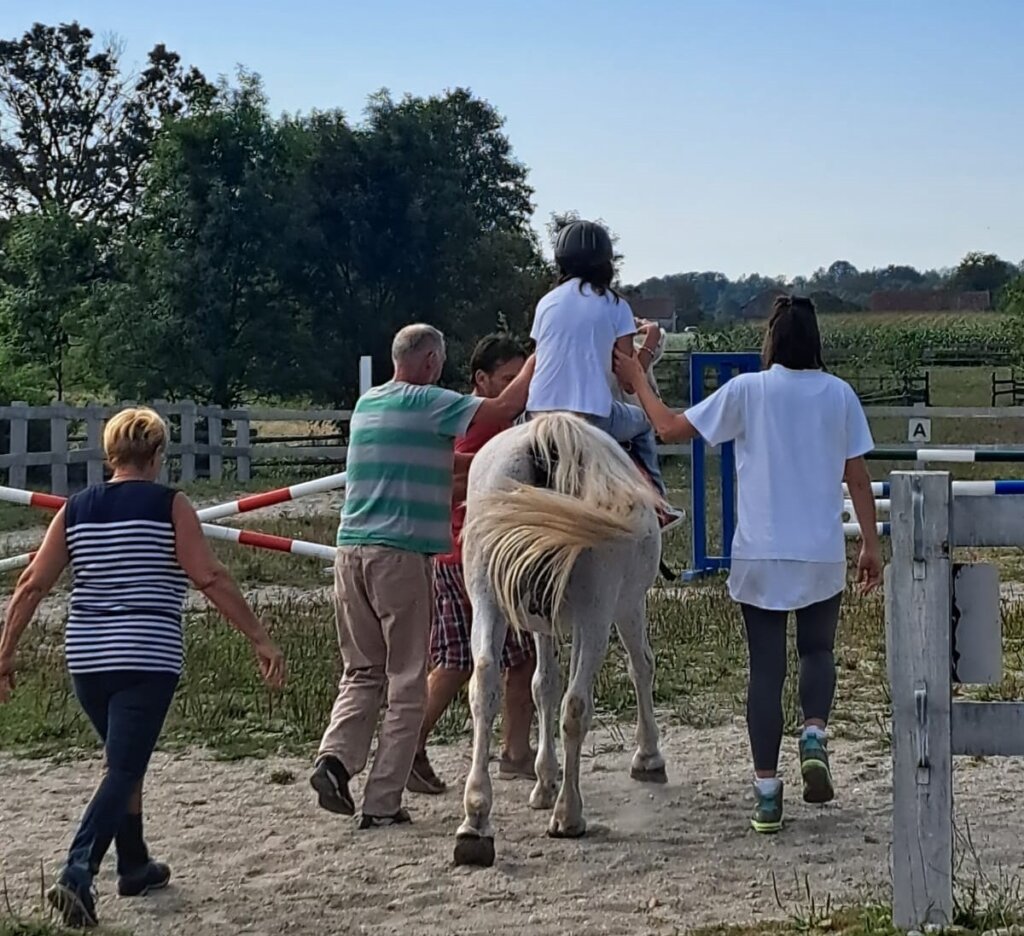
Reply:
[[469, 708], [473, 716], [473, 765], [466, 778], [466, 818], [456, 833], [455, 863], [489, 867], [495, 863], [495, 833], [490, 824], [493, 790], [488, 763], [490, 734], [498, 715], [501, 682], [498, 648], [508, 625], [487, 594], [473, 595], [473, 676]]

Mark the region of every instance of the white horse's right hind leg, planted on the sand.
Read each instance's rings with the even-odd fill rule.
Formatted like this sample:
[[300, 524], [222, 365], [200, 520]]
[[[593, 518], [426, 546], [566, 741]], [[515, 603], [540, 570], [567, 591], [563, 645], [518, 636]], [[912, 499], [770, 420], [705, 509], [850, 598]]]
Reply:
[[594, 716], [594, 680], [604, 662], [610, 632], [611, 622], [603, 615], [586, 622], [577, 616], [572, 622], [569, 684], [562, 699], [565, 774], [548, 823], [548, 835], [558, 839], [575, 839], [587, 832], [580, 792], [580, 758]]

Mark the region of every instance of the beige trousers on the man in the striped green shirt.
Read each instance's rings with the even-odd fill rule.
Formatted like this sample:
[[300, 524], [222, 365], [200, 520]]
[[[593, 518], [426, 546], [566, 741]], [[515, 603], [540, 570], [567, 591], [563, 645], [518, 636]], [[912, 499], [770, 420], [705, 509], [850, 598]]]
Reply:
[[362, 811], [393, 815], [413, 767], [427, 700], [433, 613], [428, 556], [382, 546], [345, 546], [334, 566], [338, 643], [345, 666], [321, 755], [359, 773], [387, 699]]

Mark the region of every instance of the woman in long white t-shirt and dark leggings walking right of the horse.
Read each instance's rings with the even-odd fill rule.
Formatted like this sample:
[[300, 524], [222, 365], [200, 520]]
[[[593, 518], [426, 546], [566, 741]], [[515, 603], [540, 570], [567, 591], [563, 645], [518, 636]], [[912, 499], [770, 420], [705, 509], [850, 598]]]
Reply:
[[775, 301], [763, 348], [764, 370], [740, 374], [683, 415], [647, 386], [632, 354], [615, 353], [615, 372], [635, 387], [666, 441], [700, 435], [711, 445], [735, 441], [738, 523], [729, 593], [740, 605], [750, 649], [746, 723], [754, 755], [758, 832], [782, 827], [782, 687], [786, 623], [797, 616], [800, 739], [804, 800], [835, 796], [825, 726], [836, 692], [833, 648], [846, 587], [843, 481], [860, 523], [857, 579], [881, 580], [874, 498], [863, 456], [873, 448], [864, 411], [849, 384], [826, 374], [814, 305]]

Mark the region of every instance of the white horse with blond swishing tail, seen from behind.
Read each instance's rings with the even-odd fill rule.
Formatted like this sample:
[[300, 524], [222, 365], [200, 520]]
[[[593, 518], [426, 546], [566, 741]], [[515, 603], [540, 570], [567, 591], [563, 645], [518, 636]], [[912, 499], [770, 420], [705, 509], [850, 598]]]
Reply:
[[[637, 695], [637, 751], [630, 775], [666, 782], [645, 609], [662, 553], [657, 503], [616, 442], [564, 413], [502, 432], [473, 459], [463, 531], [473, 604], [473, 765], [466, 780], [466, 819], [456, 835], [457, 864], [489, 866], [495, 860], [487, 767], [500, 700], [498, 661], [510, 626], [530, 631], [537, 645], [534, 699], [540, 736], [529, 805], [554, 807], [548, 835], [575, 838], [587, 829], [580, 756], [612, 623]], [[571, 638], [572, 650], [561, 706], [565, 770], [559, 790], [554, 732], [561, 695], [560, 636]]]

